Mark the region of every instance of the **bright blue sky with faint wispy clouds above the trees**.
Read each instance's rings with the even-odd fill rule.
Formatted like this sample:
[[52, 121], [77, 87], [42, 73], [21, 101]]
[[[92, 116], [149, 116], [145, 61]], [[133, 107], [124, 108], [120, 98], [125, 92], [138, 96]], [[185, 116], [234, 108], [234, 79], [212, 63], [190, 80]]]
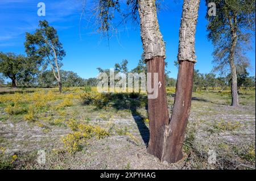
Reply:
[[[38, 16], [38, 3], [46, 4], [46, 16]], [[179, 43], [179, 26], [183, 1], [164, 1], [159, 12], [160, 31], [166, 41], [166, 61], [170, 76], [177, 77], [174, 61]], [[132, 24], [119, 28], [117, 35], [110, 37], [109, 43], [94, 29], [90, 19], [90, 1], [87, 0], [80, 22], [83, 0], [1, 0], [0, 1], [0, 51], [25, 54], [24, 40], [26, 32], [34, 32], [38, 21], [46, 19], [56, 28], [61, 43], [67, 53], [63, 60], [63, 69], [72, 70], [82, 78], [96, 77], [96, 68], [113, 68], [116, 62], [129, 61], [128, 68], [133, 69], [143, 52], [139, 27]], [[201, 73], [212, 70], [213, 46], [207, 40], [204, 1], [200, 3], [199, 20], [196, 30], [196, 69]], [[255, 75], [255, 41], [253, 49], [247, 53], [251, 61], [250, 75]]]

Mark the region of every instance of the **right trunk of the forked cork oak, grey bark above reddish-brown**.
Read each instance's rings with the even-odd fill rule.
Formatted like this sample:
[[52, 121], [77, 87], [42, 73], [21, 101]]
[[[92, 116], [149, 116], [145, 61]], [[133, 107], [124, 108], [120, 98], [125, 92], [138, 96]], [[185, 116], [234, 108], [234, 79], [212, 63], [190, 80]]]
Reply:
[[164, 135], [162, 161], [179, 161], [185, 128], [191, 108], [193, 70], [196, 62], [195, 33], [200, 0], [184, 0], [179, 32], [179, 73], [177, 77], [174, 108], [170, 124]]

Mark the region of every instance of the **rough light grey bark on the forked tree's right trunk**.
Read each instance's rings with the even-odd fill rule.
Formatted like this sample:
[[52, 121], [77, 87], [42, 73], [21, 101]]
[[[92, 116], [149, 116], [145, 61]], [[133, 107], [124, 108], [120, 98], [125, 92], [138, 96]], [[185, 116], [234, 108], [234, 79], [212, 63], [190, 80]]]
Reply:
[[179, 32], [178, 61], [196, 62], [195, 33], [200, 0], [183, 2], [182, 18]]

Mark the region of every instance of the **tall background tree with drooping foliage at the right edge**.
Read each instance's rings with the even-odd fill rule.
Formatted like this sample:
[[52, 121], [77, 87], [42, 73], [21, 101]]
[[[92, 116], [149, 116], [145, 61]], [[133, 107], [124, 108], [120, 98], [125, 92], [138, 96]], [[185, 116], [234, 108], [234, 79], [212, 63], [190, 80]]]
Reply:
[[214, 45], [213, 62], [221, 71], [229, 65], [232, 106], [238, 106], [237, 65], [248, 63], [245, 51], [255, 32], [255, 0], [207, 0], [206, 4], [209, 2], [216, 4], [216, 16], [206, 16], [208, 39]]

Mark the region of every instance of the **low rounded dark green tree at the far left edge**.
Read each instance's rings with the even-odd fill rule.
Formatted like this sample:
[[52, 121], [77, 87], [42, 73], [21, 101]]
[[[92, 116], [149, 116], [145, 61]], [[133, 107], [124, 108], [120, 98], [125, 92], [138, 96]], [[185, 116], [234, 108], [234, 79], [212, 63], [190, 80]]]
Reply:
[[37, 65], [31, 58], [25, 57], [22, 54], [0, 52], [0, 72], [11, 79], [12, 86], [17, 87], [20, 79], [29, 81], [36, 73]]

